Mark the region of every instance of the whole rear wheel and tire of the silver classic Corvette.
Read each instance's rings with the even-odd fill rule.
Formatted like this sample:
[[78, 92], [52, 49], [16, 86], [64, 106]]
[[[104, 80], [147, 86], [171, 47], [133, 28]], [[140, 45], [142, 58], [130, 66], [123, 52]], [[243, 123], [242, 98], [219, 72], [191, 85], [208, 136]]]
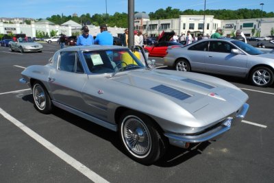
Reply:
[[40, 82], [35, 82], [32, 87], [32, 95], [34, 97], [34, 106], [35, 108], [44, 114], [51, 113], [52, 103], [47, 89]]

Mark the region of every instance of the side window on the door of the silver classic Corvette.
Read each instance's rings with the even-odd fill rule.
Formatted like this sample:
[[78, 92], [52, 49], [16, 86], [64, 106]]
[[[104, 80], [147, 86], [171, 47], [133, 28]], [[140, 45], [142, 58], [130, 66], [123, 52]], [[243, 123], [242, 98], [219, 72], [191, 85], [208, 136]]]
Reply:
[[59, 70], [71, 73], [84, 73], [77, 53], [72, 51], [63, 51], [60, 53]]

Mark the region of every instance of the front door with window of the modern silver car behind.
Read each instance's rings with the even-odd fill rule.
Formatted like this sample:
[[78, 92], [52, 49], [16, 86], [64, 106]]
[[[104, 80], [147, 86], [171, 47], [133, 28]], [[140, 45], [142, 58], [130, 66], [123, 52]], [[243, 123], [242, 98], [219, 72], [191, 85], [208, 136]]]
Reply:
[[232, 53], [236, 49], [225, 40], [210, 40], [205, 59], [206, 71], [225, 75], [243, 76], [247, 71], [247, 55]]

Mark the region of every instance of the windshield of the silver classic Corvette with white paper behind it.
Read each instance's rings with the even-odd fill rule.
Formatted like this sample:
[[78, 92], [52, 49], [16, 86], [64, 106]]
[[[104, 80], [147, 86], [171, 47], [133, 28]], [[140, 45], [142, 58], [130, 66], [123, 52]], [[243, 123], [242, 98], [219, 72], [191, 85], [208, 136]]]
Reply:
[[145, 66], [140, 59], [140, 52], [132, 53], [129, 49], [84, 51], [84, 58], [91, 73], [117, 73]]

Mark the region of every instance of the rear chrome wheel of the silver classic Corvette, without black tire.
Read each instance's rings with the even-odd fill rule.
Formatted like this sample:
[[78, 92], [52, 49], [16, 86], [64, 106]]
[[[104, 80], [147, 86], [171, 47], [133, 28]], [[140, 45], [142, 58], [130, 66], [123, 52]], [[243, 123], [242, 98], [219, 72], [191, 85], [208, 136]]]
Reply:
[[45, 91], [40, 84], [34, 85], [33, 90], [34, 102], [39, 110], [44, 110], [46, 107]]

